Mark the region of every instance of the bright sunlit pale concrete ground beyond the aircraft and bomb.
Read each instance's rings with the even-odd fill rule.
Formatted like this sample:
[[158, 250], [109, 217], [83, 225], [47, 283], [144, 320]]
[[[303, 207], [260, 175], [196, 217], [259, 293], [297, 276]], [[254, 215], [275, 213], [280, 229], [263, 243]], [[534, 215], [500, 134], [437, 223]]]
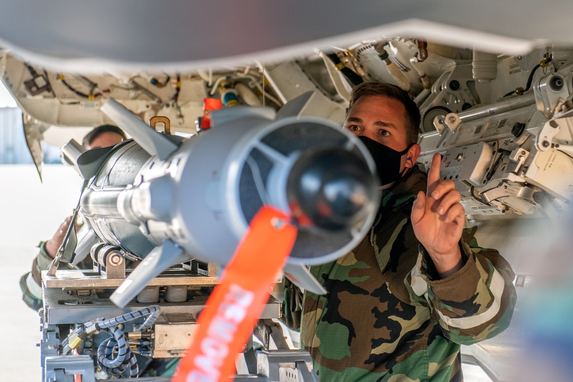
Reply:
[[[0, 381], [40, 382], [40, 318], [22, 302], [18, 285], [30, 271], [36, 245], [52, 237], [76, 206], [81, 179], [46, 165], [40, 183], [32, 165], [0, 165]], [[465, 382], [490, 382], [481, 368], [463, 365]]]

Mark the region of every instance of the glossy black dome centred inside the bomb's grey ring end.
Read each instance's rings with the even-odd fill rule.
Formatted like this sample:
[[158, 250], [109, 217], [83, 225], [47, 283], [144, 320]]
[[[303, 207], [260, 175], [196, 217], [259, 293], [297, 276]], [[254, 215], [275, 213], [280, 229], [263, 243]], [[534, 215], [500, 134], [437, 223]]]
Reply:
[[364, 160], [343, 149], [304, 152], [289, 174], [286, 193], [301, 225], [350, 229], [376, 206], [378, 180]]

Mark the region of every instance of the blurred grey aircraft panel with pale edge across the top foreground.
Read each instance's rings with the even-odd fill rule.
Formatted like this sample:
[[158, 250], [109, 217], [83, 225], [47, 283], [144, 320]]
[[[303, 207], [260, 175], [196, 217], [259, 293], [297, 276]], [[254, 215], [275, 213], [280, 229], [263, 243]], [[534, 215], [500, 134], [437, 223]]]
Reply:
[[[281, 60], [379, 36], [418, 36], [493, 53], [573, 43], [563, 1], [7, 2], [0, 41], [57, 70], [189, 70]], [[13, 15], [25, 15], [22, 23]], [[102, 66], [103, 65], [103, 66]]]

